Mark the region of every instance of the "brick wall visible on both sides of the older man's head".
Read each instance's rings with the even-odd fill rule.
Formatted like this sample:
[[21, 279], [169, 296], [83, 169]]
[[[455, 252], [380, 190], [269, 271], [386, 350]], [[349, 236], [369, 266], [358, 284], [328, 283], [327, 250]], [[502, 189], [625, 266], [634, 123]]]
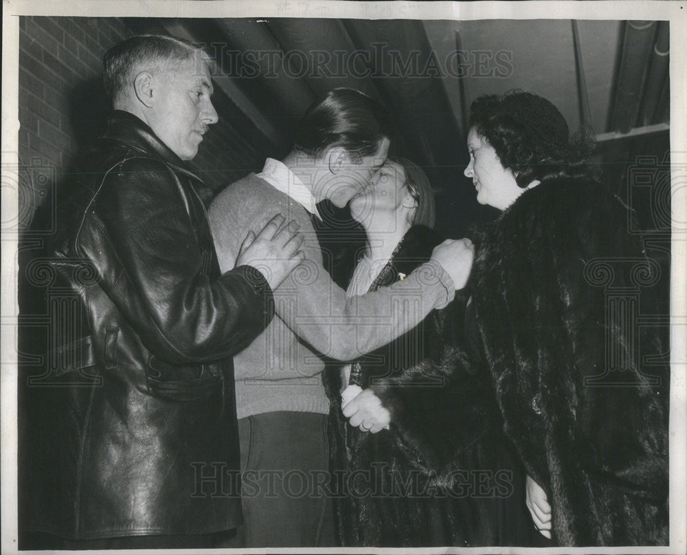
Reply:
[[[109, 109], [101, 85], [102, 54], [133, 32], [159, 32], [154, 21], [142, 26], [117, 18], [20, 17], [19, 157], [30, 169], [22, 181], [20, 213], [30, 218], [69, 181], [76, 155], [102, 129]], [[261, 168], [271, 154], [246, 138], [250, 123], [229, 98], [215, 94], [214, 102], [221, 122], [210, 127], [191, 164], [208, 186], [200, 191], [206, 200]]]

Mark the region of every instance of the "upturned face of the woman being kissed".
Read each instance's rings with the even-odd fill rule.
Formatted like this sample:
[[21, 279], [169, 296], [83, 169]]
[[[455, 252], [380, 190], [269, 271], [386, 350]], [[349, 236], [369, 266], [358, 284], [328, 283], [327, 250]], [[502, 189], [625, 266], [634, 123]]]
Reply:
[[401, 208], [409, 195], [405, 188], [405, 171], [401, 164], [387, 160], [372, 175], [370, 185], [350, 201], [350, 213], [356, 221], [365, 224], [372, 215], [393, 214]]

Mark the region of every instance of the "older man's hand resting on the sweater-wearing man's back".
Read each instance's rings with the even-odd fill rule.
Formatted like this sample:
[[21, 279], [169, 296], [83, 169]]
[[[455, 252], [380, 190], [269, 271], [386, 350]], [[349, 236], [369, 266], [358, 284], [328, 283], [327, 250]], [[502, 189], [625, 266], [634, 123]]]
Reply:
[[257, 236], [249, 231], [236, 257], [236, 266], [249, 265], [260, 270], [272, 290], [279, 287], [305, 257], [300, 250], [303, 245], [303, 235], [298, 232], [300, 224], [295, 220], [286, 224], [284, 220], [282, 214], [277, 214]]

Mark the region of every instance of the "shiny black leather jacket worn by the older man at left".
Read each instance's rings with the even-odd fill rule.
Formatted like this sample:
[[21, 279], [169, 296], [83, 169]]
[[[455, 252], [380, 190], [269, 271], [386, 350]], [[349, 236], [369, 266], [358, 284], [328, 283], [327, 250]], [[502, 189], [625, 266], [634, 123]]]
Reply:
[[76, 174], [45, 281], [52, 350], [28, 383], [25, 530], [203, 534], [241, 521], [231, 356], [273, 315], [249, 266], [220, 275], [199, 178], [115, 111]]

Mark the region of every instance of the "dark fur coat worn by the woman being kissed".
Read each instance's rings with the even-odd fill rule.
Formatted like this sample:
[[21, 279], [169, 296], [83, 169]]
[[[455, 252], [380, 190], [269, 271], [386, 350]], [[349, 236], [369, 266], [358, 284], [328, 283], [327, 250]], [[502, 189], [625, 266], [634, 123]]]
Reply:
[[[428, 228], [409, 230], [371, 289], [412, 272], [439, 242]], [[341, 414], [341, 366], [326, 369], [341, 545], [523, 543], [523, 475], [506, 448], [488, 371], [462, 348], [464, 304], [456, 298], [359, 360], [363, 389], [392, 413], [388, 431], [352, 428]]]

